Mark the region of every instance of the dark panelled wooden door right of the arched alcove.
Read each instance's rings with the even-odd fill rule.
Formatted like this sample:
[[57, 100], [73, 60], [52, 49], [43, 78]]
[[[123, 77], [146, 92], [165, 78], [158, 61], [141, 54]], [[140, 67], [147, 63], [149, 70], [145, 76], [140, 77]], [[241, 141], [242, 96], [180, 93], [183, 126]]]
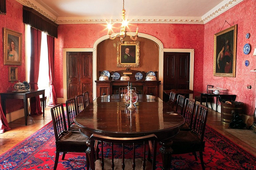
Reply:
[[190, 53], [164, 52], [163, 89], [189, 89]]

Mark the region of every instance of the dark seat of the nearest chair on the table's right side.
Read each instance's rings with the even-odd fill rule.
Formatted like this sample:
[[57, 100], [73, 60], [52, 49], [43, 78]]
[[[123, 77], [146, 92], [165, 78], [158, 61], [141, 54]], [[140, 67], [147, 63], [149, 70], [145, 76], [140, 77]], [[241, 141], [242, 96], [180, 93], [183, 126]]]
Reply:
[[204, 151], [205, 142], [193, 131], [179, 131], [171, 138], [173, 140], [173, 154], [186, 154], [190, 152]]

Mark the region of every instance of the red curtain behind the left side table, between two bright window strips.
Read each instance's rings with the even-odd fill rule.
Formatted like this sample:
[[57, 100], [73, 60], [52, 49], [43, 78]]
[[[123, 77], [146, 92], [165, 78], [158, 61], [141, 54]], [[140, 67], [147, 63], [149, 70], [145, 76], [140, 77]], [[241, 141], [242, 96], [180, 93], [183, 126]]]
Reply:
[[[38, 89], [39, 63], [41, 53], [42, 32], [31, 27], [31, 64], [30, 64], [30, 87], [32, 90]], [[40, 105], [40, 97], [31, 97], [30, 99], [30, 115], [42, 114]]]

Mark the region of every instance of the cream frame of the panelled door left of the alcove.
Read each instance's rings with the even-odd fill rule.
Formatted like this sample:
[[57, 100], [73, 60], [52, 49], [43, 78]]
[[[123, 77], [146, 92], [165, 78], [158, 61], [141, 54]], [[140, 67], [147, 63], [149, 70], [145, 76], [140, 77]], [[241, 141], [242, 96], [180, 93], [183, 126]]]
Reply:
[[65, 103], [67, 100], [67, 52], [93, 53], [93, 48], [63, 48], [63, 98], [58, 98], [58, 103]]

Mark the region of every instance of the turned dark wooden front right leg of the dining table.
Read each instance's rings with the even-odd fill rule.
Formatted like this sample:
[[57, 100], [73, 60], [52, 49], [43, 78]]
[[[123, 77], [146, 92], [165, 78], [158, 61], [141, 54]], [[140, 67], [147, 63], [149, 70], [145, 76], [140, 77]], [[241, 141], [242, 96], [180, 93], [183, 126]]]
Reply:
[[171, 145], [173, 145], [172, 140], [168, 141], [161, 141], [160, 144], [162, 147], [159, 149], [159, 151], [162, 154], [163, 159], [163, 169], [162, 170], [170, 170], [171, 169], [171, 154], [173, 153], [173, 149], [171, 148]]

